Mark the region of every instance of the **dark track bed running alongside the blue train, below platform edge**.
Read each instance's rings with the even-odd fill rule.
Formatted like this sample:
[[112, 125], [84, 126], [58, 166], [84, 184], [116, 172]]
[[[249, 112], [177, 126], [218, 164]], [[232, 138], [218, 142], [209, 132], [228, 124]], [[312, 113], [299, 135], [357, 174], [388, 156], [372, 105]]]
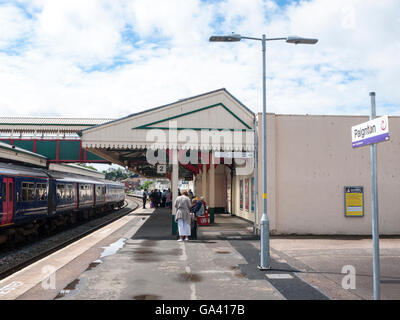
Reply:
[[[51, 248], [57, 247], [71, 239], [77, 239], [85, 235], [88, 231], [106, 223], [111, 223], [118, 218], [130, 213], [139, 207], [138, 202], [133, 199], [128, 200], [128, 205], [121, 210], [114, 210], [102, 217], [83, 222], [77, 226], [72, 226], [69, 229], [58, 232], [55, 235], [38, 239], [32, 244], [24, 245], [21, 248], [12, 251], [0, 252], [0, 280], [7, 275], [1, 275], [10, 268], [16, 267], [28, 259], [39, 256], [43, 252]], [[93, 230], [94, 231], [94, 230]]]

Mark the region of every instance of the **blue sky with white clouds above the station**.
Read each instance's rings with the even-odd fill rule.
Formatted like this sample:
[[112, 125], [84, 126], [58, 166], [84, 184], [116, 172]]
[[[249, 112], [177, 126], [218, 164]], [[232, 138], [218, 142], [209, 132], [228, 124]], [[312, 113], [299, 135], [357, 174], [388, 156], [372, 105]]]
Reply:
[[219, 88], [262, 111], [400, 115], [399, 0], [0, 0], [0, 116], [119, 118]]

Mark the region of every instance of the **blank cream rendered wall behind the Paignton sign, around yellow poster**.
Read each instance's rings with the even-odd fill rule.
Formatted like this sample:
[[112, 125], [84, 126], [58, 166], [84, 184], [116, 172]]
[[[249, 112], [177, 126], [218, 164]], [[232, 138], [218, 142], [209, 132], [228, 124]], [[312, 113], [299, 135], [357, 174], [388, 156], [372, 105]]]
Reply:
[[[370, 147], [351, 146], [351, 127], [368, 120], [366, 116], [268, 114], [267, 213], [273, 233], [371, 234]], [[389, 130], [390, 141], [377, 148], [379, 229], [386, 235], [400, 234], [400, 117], [389, 117]], [[258, 137], [261, 147], [261, 121]], [[262, 195], [261, 148], [258, 154]], [[344, 186], [364, 187], [363, 217], [345, 217]], [[234, 213], [253, 221], [239, 209], [238, 189], [235, 177]], [[258, 208], [260, 218], [261, 199]]]

